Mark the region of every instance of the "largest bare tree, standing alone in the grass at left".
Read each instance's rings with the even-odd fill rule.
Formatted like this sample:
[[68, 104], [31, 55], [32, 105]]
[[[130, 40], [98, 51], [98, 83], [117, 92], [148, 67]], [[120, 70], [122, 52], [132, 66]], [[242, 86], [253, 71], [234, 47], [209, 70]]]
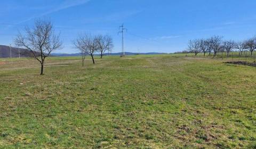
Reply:
[[25, 34], [19, 33], [14, 39], [15, 45], [29, 50], [27, 56], [34, 57], [41, 63], [41, 73], [44, 70], [45, 58], [56, 49], [61, 49], [60, 34], [54, 33], [51, 21], [37, 20], [33, 28], [26, 27]]

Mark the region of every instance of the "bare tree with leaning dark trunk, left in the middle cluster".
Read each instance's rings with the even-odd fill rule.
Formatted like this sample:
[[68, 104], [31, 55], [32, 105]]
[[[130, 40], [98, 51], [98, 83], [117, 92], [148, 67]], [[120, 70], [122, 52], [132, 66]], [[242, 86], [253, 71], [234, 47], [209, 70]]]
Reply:
[[[90, 34], [81, 34], [73, 43], [75, 47], [83, 53], [84, 57], [85, 55], [90, 55], [93, 64], [95, 64], [94, 53], [98, 51], [99, 47], [94, 36], [91, 36]], [[84, 62], [84, 58], [82, 60]]]

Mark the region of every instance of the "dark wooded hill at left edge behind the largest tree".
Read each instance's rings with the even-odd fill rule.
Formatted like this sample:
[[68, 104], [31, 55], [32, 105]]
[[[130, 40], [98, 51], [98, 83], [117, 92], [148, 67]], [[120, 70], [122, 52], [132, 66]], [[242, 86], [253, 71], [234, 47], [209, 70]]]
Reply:
[[[20, 53], [24, 53], [27, 49], [20, 48]], [[10, 46], [0, 45], [0, 58], [10, 57]], [[12, 57], [19, 57], [19, 52], [17, 47], [12, 47]], [[25, 57], [22, 54], [20, 57]]]

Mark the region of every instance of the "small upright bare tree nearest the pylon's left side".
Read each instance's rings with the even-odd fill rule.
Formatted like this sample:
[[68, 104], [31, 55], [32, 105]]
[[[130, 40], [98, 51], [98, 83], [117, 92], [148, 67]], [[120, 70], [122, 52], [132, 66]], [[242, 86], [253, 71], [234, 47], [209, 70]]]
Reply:
[[95, 40], [99, 48], [100, 58], [102, 59], [102, 56], [104, 55], [104, 53], [107, 50], [111, 51], [111, 49], [113, 48], [113, 39], [108, 35], [105, 35], [105, 36], [98, 35], [95, 38]]

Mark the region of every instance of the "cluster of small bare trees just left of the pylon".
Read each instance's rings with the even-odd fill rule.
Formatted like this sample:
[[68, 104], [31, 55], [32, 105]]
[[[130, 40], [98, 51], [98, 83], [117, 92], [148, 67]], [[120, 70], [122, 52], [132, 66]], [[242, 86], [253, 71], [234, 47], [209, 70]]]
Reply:
[[93, 64], [95, 64], [95, 52], [99, 52], [100, 58], [102, 59], [102, 56], [105, 54], [105, 52], [111, 51], [113, 48], [113, 39], [108, 35], [92, 36], [91, 34], [81, 34], [73, 43], [75, 47], [78, 48], [81, 52], [83, 66], [86, 55], [90, 55]]

